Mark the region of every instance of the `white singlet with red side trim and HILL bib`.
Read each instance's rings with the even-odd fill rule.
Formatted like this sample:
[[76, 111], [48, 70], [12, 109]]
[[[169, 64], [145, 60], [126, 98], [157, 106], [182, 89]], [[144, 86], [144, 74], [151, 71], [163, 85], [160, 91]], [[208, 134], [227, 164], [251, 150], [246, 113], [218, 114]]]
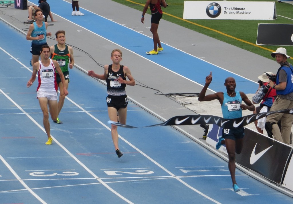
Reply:
[[38, 71], [39, 85], [37, 91], [57, 91], [56, 70], [51, 59], [48, 67], [45, 67], [41, 60]]

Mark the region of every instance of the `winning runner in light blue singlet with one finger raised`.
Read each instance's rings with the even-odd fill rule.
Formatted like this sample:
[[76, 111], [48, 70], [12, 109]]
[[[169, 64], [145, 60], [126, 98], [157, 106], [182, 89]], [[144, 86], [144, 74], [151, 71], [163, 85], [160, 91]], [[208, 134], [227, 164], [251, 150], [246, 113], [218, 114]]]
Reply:
[[[242, 110], [255, 110], [254, 105], [247, 98], [245, 93], [241, 91], [235, 91], [236, 81], [233, 77], [228, 77], [225, 80], [224, 86], [226, 86], [227, 92], [217, 92], [209, 95], [205, 95], [209, 84], [212, 82], [212, 72], [205, 78], [205, 86], [202, 88], [200, 95], [198, 97], [199, 101], [212, 101], [217, 99], [222, 106], [223, 118], [241, 118]], [[245, 104], [241, 104], [244, 101]], [[235, 178], [235, 153], [240, 154], [243, 147], [243, 136], [244, 136], [244, 128], [238, 129], [224, 129], [222, 132], [222, 136], [219, 137], [219, 142], [216, 145], [216, 149], [219, 149], [221, 145], [225, 144], [229, 162], [228, 167], [230, 171], [230, 175], [232, 178], [232, 186], [234, 192], [240, 191], [236, 183]], [[222, 138], [223, 137], [223, 138]]]

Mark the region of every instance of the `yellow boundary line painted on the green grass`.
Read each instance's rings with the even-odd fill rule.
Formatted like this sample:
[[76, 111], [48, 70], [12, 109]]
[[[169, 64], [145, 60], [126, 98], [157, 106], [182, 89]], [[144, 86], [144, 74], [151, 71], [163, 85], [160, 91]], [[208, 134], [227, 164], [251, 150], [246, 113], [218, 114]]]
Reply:
[[[139, 4], [139, 3], [134, 2], [134, 1], [131, 1], [131, 0], [125, 0], [125, 1], [128, 1], [128, 2], [133, 3], [133, 4], [138, 4], [138, 5], [144, 6], [144, 4]], [[207, 29], [207, 30], [211, 30], [211, 31], [213, 31], [213, 32], [216, 32], [216, 33], [219, 33], [219, 34], [221, 34], [221, 35], [224, 35], [224, 36], [226, 36], [226, 37], [228, 37], [228, 38], [232, 38], [232, 39], [234, 39], [234, 40], [238, 40], [238, 41], [240, 41], [240, 42], [242, 42], [242, 43], [246, 43], [246, 44], [248, 44], [248, 45], [253, 45], [253, 46], [255, 46], [255, 47], [261, 48], [261, 49], [263, 49], [263, 50], [268, 50], [268, 51], [270, 51], [270, 52], [275, 52], [275, 50], [271, 50], [271, 49], [269, 49], [269, 48], [266, 48], [266, 47], [262, 47], [262, 46], [260, 46], [260, 45], [253, 44], [253, 43], [250, 43], [250, 42], [248, 42], [248, 41], [241, 40], [241, 39], [236, 38], [236, 37], [234, 37], [234, 36], [232, 36], [232, 35], [228, 35], [228, 34], [226, 34], [226, 33], [223, 33], [223, 32], [221, 32], [221, 31], [219, 31], [219, 30], [215, 30], [215, 29], [212, 29], [212, 28], [209, 28], [209, 27], [206, 27], [206, 26], [202, 26], [202, 25], [197, 24], [197, 23], [193, 23], [193, 22], [191, 22], [191, 21], [185, 20], [185, 19], [183, 19], [183, 18], [179, 18], [179, 17], [177, 17], [177, 16], [173, 16], [172, 14], [169, 14], [169, 13], [166, 13], [166, 12], [163, 12], [163, 13], [166, 14], [167, 16], [171, 16], [171, 17], [173, 17], [173, 18], [179, 19], [179, 20], [184, 21], [184, 22], [186, 22], [186, 23], [190, 23], [190, 24], [193, 24], [193, 25], [195, 25], [195, 26], [198, 26], [198, 27], [201, 27], [201, 28], [205, 28], [205, 29]]]

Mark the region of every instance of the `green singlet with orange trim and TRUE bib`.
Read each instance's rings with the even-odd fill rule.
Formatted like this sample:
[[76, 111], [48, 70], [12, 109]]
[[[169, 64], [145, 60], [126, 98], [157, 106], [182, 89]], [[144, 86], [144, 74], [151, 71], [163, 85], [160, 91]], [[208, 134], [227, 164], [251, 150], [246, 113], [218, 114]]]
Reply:
[[68, 71], [69, 57], [70, 54], [67, 45], [65, 45], [65, 50], [59, 50], [57, 44], [55, 45], [51, 58], [58, 62], [62, 72]]

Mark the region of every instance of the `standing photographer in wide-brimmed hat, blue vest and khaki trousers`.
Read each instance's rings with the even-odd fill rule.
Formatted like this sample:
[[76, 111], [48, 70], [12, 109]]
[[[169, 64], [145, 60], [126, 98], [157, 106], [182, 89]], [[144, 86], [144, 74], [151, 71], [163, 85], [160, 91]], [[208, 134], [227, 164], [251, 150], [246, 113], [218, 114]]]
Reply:
[[[271, 56], [276, 58], [281, 67], [276, 74], [276, 82], [270, 80], [268, 83], [271, 88], [276, 89], [277, 98], [274, 101], [271, 111], [293, 108], [293, 67], [287, 62], [287, 51], [283, 47], [279, 47], [276, 52], [272, 52]], [[277, 122], [281, 120], [281, 131]], [[285, 144], [290, 144], [291, 127], [293, 123], [293, 115], [276, 113], [269, 115], [266, 119], [265, 129], [268, 134], [271, 132], [274, 139]]]

